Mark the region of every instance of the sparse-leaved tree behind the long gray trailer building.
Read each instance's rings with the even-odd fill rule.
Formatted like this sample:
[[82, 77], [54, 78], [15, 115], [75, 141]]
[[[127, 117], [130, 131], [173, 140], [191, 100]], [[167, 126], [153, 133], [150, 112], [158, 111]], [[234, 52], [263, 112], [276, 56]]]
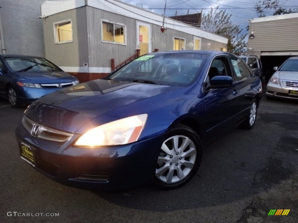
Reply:
[[218, 7], [211, 8], [207, 15], [202, 15], [201, 29], [227, 37], [229, 39], [227, 51], [241, 55], [245, 53], [244, 48], [247, 47], [245, 41], [247, 34], [241, 34], [240, 26], [232, 24], [231, 16], [226, 13], [226, 10], [218, 10]]

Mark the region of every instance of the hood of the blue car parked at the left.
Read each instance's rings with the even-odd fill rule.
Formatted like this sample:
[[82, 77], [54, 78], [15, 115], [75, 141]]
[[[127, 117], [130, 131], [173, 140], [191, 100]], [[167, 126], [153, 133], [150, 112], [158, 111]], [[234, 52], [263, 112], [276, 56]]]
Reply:
[[32, 81], [38, 84], [65, 83], [76, 80], [69, 73], [63, 71], [16, 72], [15, 74], [26, 81]]

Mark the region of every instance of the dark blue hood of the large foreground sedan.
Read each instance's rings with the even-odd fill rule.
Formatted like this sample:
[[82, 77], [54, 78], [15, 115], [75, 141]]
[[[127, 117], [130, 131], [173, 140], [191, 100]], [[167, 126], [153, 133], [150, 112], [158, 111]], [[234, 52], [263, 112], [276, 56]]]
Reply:
[[36, 100], [28, 107], [25, 116], [51, 128], [76, 132], [102, 114], [181, 88], [98, 79]]

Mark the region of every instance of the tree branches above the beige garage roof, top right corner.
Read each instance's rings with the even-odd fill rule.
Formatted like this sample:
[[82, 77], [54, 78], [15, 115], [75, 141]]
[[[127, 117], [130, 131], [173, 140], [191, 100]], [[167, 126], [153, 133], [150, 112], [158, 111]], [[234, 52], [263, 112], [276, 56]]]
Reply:
[[287, 10], [286, 8], [281, 7], [279, 4], [279, 0], [262, 0], [258, 1], [255, 4], [255, 8], [257, 13], [259, 14], [259, 17], [265, 17], [265, 12], [266, 10], [271, 10], [272, 12], [266, 12], [269, 15], [283, 15], [283, 14], [290, 14], [294, 12], [298, 12], [297, 8], [289, 9]]

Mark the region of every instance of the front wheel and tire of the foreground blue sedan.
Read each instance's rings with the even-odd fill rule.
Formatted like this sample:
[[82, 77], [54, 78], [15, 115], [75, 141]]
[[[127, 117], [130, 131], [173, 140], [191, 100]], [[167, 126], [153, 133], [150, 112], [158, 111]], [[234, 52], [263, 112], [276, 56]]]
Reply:
[[161, 145], [154, 183], [162, 189], [174, 189], [187, 183], [200, 167], [202, 144], [189, 127], [177, 124]]

